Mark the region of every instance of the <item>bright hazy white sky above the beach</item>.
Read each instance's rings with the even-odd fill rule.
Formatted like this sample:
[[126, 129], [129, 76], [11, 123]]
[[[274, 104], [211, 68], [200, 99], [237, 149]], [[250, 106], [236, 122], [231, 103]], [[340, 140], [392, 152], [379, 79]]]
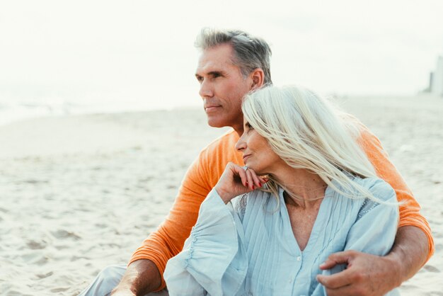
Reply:
[[1, 1], [0, 103], [200, 106], [202, 27], [265, 38], [276, 85], [410, 96], [443, 55], [443, 1]]

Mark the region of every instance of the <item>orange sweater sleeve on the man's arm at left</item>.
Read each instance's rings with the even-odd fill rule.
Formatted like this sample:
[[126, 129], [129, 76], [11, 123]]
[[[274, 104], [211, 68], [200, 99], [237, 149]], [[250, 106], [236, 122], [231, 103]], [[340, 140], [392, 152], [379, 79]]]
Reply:
[[128, 264], [140, 259], [154, 262], [162, 275], [158, 290], [166, 287], [163, 280], [166, 262], [183, 249], [185, 239], [197, 222], [201, 203], [222, 176], [227, 162], [239, 164], [241, 155], [233, 154], [237, 137], [234, 132], [227, 132], [200, 152], [186, 172], [166, 219], [132, 254]]

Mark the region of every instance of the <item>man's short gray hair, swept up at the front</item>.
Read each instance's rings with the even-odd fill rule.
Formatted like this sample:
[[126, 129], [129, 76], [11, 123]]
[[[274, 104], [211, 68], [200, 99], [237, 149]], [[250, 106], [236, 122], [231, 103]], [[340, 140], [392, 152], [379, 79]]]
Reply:
[[252, 36], [242, 30], [217, 30], [203, 28], [195, 40], [195, 47], [206, 50], [217, 45], [230, 44], [234, 49], [232, 61], [241, 70], [243, 77], [255, 69], [263, 69], [265, 85], [271, 85], [271, 49], [263, 38]]

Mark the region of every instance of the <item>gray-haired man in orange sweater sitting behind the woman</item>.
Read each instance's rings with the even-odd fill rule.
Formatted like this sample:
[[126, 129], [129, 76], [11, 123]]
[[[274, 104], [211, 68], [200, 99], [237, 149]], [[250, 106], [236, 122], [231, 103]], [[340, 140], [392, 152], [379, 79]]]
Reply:
[[[130, 263], [105, 268], [81, 295], [167, 295], [163, 271], [176, 256], [197, 221], [200, 204], [215, 186], [226, 164], [243, 166], [234, 144], [243, 133], [241, 100], [249, 91], [272, 84], [271, 50], [267, 42], [240, 30], [203, 29], [195, 42], [201, 50], [195, 77], [212, 127], [232, 130], [209, 144], [188, 169], [166, 220], [144, 240]], [[350, 117], [350, 120], [355, 118]], [[384, 295], [411, 278], [432, 256], [434, 242], [420, 205], [389, 161], [379, 140], [362, 123], [359, 144], [372, 161], [380, 178], [396, 190], [400, 222], [396, 241], [386, 256], [357, 251], [332, 254], [319, 268], [345, 263], [348, 268], [333, 275], [318, 275], [328, 295]], [[150, 293], [152, 291], [159, 291]]]

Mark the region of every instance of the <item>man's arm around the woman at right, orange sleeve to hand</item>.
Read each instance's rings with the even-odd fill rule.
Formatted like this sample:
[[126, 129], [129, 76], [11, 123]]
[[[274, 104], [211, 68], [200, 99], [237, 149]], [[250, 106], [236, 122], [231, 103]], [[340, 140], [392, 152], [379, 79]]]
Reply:
[[357, 251], [333, 254], [321, 269], [347, 263], [348, 272], [321, 275], [318, 280], [328, 289], [328, 295], [384, 295], [420, 270], [434, 252], [434, 241], [429, 224], [420, 215], [420, 205], [389, 161], [379, 140], [358, 120], [350, 120], [355, 120], [360, 127], [359, 144], [374, 165], [376, 173], [392, 186], [401, 202], [399, 228], [388, 255], [381, 257]]

